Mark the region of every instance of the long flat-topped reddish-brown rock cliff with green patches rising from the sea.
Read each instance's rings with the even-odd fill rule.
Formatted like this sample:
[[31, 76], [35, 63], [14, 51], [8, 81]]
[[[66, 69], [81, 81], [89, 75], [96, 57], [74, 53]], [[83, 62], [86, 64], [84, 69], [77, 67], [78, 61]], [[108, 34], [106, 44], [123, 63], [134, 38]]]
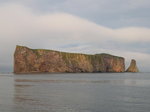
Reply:
[[124, 72], [124, 58], [109, 54], [86, 55], [17, 46], [14, 73]]

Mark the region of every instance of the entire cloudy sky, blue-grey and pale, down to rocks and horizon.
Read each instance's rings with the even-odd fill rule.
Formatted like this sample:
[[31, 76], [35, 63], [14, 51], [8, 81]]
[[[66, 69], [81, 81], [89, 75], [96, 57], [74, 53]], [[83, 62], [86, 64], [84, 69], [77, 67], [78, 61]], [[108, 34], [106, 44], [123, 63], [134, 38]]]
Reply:
[[0, 72], [16, 45], [136, 59], [150, 72], [149, 0], [0, 0]]

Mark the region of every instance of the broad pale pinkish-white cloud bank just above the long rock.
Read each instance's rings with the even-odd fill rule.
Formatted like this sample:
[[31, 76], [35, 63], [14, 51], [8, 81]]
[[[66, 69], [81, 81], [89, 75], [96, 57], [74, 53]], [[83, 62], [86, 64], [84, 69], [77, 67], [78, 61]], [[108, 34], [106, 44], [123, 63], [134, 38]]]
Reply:
[[149, 45], [149, 28], [111, 29], [68, 13], [37, 13], [20, 4], [0, 5], [0, 17], [0, 66], [13, 66], [17, 44], [69, 52], [106, 52], [127, 57], [128, 62], [129, 58], [138, 59], [142, 70], [149, 65], [148, 52], [134, 51], [137, 42]]

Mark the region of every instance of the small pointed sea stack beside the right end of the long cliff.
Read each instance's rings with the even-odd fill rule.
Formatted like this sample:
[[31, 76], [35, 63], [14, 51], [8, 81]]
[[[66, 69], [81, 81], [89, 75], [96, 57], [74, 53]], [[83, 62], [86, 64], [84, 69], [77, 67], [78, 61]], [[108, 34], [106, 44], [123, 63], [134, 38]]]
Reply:
[[131, 60], [130, 66], [126, 70], [126, 72], [139, 72], [139, 69], [136, 65], [136, 61], [134, 59]]

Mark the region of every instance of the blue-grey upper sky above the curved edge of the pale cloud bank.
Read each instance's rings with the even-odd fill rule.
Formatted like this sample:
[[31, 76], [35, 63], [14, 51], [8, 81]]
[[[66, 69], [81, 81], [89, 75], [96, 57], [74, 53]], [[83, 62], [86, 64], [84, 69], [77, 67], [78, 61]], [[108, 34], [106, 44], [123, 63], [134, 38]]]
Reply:
[[0, 0], [35, 12], [66, 12], [111, 28], [150, 27], [149, 0]]

